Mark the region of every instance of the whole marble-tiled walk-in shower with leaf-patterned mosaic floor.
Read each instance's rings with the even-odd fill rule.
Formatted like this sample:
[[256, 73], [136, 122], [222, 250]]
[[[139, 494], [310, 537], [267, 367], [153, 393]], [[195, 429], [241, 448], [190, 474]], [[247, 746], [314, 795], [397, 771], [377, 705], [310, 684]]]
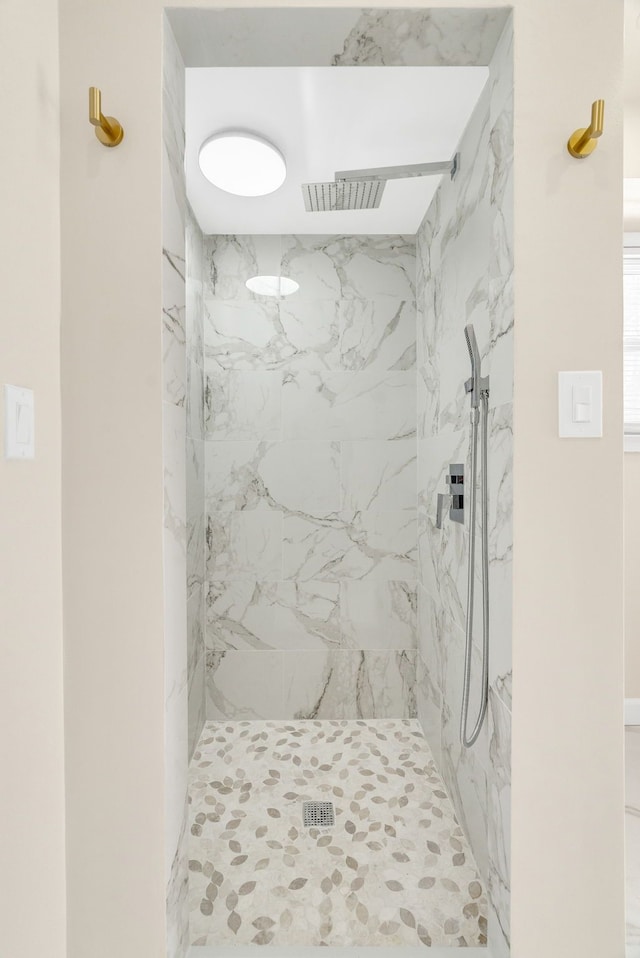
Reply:
[[[167, 19], [170, 958], [504, 958], [509, 13]], [[203, 176], [239, 129], [276, 145], [277, 189]]]

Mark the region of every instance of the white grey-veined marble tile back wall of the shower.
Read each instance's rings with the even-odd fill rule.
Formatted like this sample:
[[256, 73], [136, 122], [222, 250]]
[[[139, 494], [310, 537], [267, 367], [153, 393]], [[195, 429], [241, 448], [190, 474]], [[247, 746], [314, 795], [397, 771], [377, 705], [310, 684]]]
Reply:
[[[415, 714], [415, 262], [405, 236], [205, 239], [210, 720]], [[279, 269], [298, 292], [246, 289]]]

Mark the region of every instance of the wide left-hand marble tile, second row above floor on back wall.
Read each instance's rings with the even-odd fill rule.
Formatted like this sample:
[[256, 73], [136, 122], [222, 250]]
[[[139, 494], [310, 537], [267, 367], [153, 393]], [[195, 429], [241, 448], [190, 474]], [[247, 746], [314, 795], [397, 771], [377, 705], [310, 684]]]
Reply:
[[341, 644], [338, 583], [209, 584], [209, 649], [322, 650]]

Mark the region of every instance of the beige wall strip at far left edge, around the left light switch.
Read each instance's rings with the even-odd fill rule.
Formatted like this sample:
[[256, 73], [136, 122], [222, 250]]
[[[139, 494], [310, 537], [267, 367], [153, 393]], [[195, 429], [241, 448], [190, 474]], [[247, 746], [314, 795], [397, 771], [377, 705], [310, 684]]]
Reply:
[[0, 458], [0, 954], [7, 958], [66, 954], [57, 16], [57, 0], [0, 3], [0, 383], [30, 387], [36, 403], [36, 458]]

